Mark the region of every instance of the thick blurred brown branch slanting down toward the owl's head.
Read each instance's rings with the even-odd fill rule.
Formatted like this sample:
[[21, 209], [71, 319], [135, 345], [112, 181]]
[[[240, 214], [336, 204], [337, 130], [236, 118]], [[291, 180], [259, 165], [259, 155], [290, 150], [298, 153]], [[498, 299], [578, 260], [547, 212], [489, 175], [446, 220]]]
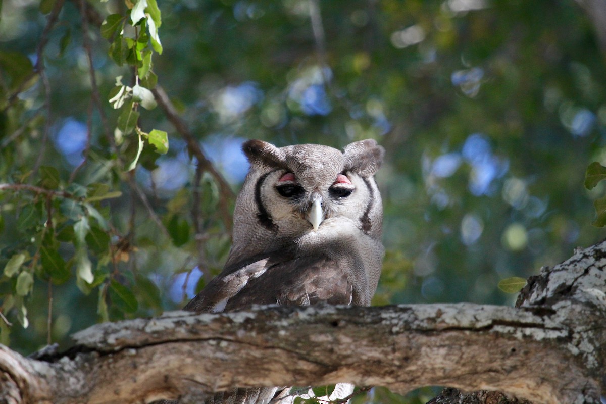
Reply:
[[[202, 148], [198, 143], [198, 139], [193, 136], [193, 133], [191, 133], [187, 125], [185, 125], [185, 122], [183, 122], [182, 119], [179, 118], [179, 114], [175, 110], [175, 106], [170, 101], [170, 99], [168, 99], [168, 96], [164, 89], [158, 85], [151, 91], [153, 92], [156, 101], [158, 102], [158, 105], [160, 105], [160, 107], [166, 114], [168, 121], [170, 121], [171, 124], [173, 124], [173, 126], [175, 127], [175, 129], [179, 132], [179, 134], [181, 134], [181, 136], [187, 143], [187, 148], [189, 149], [190, 153], [196, 157], [196, 160], [198, 161], [198, 166], [201, 167], [201, 170], [208, 171], [208, 173], [213, 176], [213, 178], [219, 185], [219, 194], [221, 196], [221, 202], [219, 203], [219, 211], [221, 212], [221, 218], [225, 225], [225, 230], [228, 233], [231, 233], [231, 213], [228, 209], [228, 202], [235, 199], [235, 194], [233, 193], [229, 184], [227, 184], [227, 181], [225, 181], [223, 176], [219, 174], [215, 167], [213, 167], [212, 163], [207, 159], [204, 154], [204, 151], [202, 151]], [[193, 191], [199, 192], [198, 187], [195, 187]], [[198, 237], [198, 234], [196, 234], [196, 237]]]

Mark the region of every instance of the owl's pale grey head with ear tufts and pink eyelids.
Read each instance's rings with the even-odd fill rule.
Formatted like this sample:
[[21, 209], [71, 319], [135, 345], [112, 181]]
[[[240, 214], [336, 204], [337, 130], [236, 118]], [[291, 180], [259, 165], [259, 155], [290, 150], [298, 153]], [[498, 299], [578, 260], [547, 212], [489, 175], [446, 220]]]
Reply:
[[242, 150], [250, 171], [236, 200], [227, 265], [288, 242], [321, 243], [344, 232], [380, 243], [382, 204], [373, 175], [384, 149], [374, 140], [344, 151], [251, 140]]

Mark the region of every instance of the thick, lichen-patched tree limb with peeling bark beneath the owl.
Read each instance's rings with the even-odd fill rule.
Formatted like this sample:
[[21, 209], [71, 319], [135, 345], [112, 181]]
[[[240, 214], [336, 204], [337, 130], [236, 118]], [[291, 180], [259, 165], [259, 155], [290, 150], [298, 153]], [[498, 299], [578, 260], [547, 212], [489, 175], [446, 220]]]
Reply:
[[605, 267], [606, 243], [578, 250], [531, 277], [514, 308], [258, 307], [103, 323], [62, 353], [2, 347], [0, 402], [195, 402], [234, 386], [351, 382], [501, 392], [447, 390], [434, 403], [599, 403]]

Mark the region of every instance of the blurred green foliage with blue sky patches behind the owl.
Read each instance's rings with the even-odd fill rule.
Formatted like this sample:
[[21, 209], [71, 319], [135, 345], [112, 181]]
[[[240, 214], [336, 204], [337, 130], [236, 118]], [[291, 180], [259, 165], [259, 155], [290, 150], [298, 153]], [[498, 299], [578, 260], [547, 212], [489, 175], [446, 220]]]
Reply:
[[590, 162], [606, 165], [604, 55], [573, 0], [142, 1], [2, 4], [0, 342], [13, 349], [180, 308], [221, 270], [233, 199], [196, 173], [153, 108], [156, 83], [234, 191], [243, 139], [384, 145], [375, 304], [511, 304], [499, 280], [603, 237], [605, 182], [583, 185]]

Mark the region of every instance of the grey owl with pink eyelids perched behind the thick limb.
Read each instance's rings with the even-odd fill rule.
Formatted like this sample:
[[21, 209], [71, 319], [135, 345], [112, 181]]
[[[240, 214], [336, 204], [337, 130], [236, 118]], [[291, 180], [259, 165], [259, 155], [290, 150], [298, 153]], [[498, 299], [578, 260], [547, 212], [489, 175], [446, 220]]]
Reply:
[[[259, 140], [242, 150], [250, 170], [236, 199], [233, 246], [221, 274], [184, 310], [370, 305], [384, 253], [373, 178], [384, 149], [369, 139], [344, 151], [315, 144], [278, 148]], [[340, 397], [353, 390], [348, 386], [338, 385]], [[210, 402], [288, 402], [288, 390], [236, 389]]]

